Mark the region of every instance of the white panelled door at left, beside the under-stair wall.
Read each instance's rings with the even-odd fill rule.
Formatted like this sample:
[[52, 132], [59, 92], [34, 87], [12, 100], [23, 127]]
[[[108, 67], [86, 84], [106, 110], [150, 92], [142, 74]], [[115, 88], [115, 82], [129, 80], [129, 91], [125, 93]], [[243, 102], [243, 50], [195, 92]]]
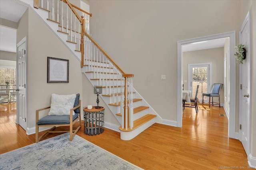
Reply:
[[24, 37], [17, 44], [17, 123], [26, 131], [27, 99], [26, 99], [26, 68], [27, 41]]

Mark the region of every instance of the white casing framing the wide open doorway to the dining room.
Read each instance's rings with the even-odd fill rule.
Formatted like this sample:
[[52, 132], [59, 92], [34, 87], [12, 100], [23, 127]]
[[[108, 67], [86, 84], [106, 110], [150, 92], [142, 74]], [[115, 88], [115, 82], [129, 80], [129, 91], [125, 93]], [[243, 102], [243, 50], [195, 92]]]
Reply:
[[[199, 37], [177, 42], [177, 127], [182, 127], [182, 45], [194, 43], [198, 41], [206, 41], [217, 38], [229, 37], [230, 55], [234, 54], [234, 46], [236, 44], [236, 32], [221, 33], [206, 37]], [[230, 109], [228, 121], [228, 137], [235, 138], [235, 120], [236, 120], [236, 60], [230, 57]]]

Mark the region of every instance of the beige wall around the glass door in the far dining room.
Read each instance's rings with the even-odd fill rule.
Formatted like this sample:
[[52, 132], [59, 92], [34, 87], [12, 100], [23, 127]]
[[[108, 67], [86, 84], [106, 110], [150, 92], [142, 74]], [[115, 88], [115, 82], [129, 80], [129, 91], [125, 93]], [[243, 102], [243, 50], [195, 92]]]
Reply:
[[[188, 64], [212, 63], [212, 84], [224, 84], [224, 48], [205, 49], [182, 53], [182, 81], [188, 80]], [[183, 83], [185, 90], [188, 83]], [[220, 102], [224, 103], [224, 89], [220, 93]], [[218, 98], [214, 98], [218, 102]]]

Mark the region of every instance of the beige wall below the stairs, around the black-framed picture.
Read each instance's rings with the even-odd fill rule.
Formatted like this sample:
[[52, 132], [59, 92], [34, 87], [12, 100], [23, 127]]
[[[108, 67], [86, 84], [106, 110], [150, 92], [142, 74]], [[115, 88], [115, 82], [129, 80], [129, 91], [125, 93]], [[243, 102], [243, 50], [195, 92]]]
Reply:
[[[29, 32], [29, 35], [26, 34]], [[28, 128], [35, 127], [36, 109], [50, 106], [51, 94], [82, 94], [80, 61], [46, 24], [28, 9], [19, 21], [17, 42], [27, 35]], [[47, 83], [47, 57], [69, 60], [69, 83]], [[82, 95], [81, 95], [82, 99]]]

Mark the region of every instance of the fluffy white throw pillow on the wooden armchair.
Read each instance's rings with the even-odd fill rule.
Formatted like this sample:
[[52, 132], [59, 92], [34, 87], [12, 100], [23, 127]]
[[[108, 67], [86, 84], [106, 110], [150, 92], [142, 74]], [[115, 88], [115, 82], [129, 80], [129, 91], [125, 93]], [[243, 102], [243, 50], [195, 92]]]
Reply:
[[[74, 107], [75, 99], [76, 94], [52, 94], [51, 108], [48, 115], [70, 115], [70, 109]], [[73, 111], [74, 114], [75, 112]]]

